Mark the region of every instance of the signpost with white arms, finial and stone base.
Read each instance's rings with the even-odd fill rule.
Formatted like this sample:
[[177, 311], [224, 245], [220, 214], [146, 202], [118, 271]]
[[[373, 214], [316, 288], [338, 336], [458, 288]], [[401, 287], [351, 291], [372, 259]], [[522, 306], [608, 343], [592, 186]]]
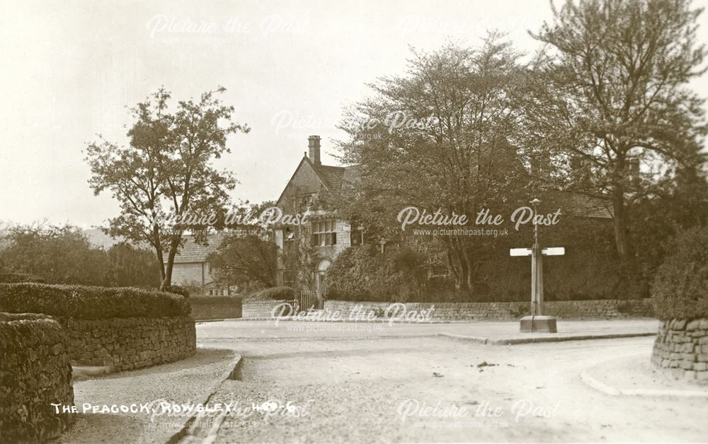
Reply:
[[511, 256], [531, 257], [531, 315], [521, 318], [522, 332], [548, 332], [555, 333], [556, 318], [543, 315], [543, 262], [544, 256], [562, 256], [566, 250], [564, 247], [541, 248], [538, 240], [538, 223], [536, 218], [536, 206], [540, 204], [539, 199], [533, 199], [531, 204], [534, 207], [534, 242], [531, 248], [512, 248], [509, 251]]

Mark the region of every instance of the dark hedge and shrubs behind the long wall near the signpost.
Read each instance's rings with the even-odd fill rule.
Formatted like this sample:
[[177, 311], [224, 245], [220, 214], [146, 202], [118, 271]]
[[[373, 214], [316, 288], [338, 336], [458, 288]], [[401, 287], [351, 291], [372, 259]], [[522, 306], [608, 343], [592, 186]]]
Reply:
[[[529, 235], [530, 233], [525, 233]], [[530, 300], [529, 257], [510, 257], [509, 249], [530, 246], [515, 237], [496, 238], [480, 247], [477, 279], [469, 289], [455, 288], [450, 276], [427, 278], [429, 252], [410, 247], [372, 247], [342, 252], [326, 274], [327, 297], [338, 300], [389, 302], [503, 302]], [[542, 245], [564, 246], [563, 257], [544, 257], [546, 300], [634, 299], [648, 296], [648, 286], [633, 287], [619, 272], [619, 257], [609, 221], [565, 218], [559, 226], [542, 230]]]

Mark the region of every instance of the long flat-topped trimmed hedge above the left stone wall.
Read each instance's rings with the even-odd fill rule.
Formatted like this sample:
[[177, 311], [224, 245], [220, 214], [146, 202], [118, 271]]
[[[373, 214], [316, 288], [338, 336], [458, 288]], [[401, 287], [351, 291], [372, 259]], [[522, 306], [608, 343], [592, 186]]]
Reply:
[[163, 317], [190, 314], [188, 299], [132, 287], [0, 284], [0, 310], [75, 319]]

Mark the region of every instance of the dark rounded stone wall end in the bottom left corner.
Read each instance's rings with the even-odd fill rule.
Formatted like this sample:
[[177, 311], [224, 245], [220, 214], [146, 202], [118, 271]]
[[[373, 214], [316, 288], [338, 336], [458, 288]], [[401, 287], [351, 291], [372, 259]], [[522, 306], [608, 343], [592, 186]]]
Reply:
[[69, 339], [50, 316], [0, 313], [0, 441], [57, 438], [75, 416]]

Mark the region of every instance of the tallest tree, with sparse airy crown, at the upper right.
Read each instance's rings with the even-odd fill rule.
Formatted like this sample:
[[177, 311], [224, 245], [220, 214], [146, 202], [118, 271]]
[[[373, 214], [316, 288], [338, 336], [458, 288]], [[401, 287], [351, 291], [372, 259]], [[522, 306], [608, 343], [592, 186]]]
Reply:
[[615, 246], [633, 257], [631, 206], [655, 178], [704, 161], [704, 100], [687, 88], [703, 74], [704, 46], [690, 0], [568, 0], [534, 37], [544, 42], [527, 98], [526, 134], [552, 159], [564, 189], [611, 201]]

